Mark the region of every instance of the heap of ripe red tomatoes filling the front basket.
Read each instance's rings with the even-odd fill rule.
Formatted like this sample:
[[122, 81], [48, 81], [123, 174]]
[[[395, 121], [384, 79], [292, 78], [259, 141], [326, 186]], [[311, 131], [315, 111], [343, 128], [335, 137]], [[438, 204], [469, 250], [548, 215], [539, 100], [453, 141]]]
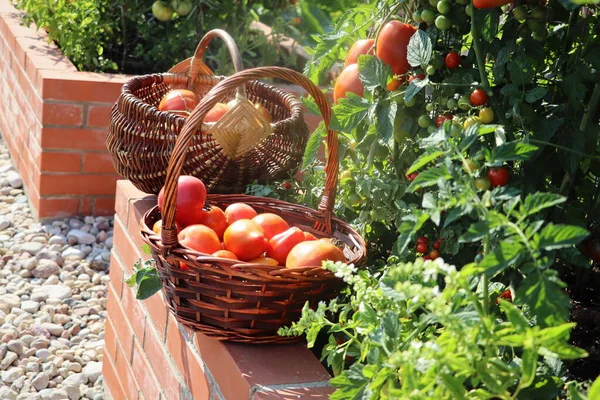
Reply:
[[[175, 218], [181, 245], [215, 257], [288, 268], [319, 267], [326, 260], [347, 261], [329, 239], [317, 239], [277, 214], [259, 214], [245, 203], [233, 203], [222, 210], [205, 207], [205, 202], [202, 181], [180, 176]], [[158, 195], [158, 207], [164, 207], [164, 188]], [[159, 220], [153, 231], [160, 234], [161, 229]], [[187, 268], [185, 264], [181, 267]]]

